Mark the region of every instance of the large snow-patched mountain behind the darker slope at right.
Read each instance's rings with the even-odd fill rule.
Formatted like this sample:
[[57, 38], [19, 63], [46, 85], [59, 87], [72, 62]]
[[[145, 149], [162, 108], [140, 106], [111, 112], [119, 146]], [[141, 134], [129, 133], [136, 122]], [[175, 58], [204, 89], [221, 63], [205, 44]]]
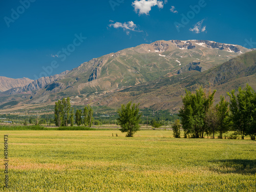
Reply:
[[[10, 96], [9, 99], [17, 99], [16, 95], [22, 94], [20, 103], [25, 105], [53, 104], [63, 97], [71, 97], [72, 104], [91, 103], [116, 108], [121, 102], [132, 99], [142, 101], [145, 107], [161, 109], [169, 105], [166, 103], [167, 96], [154, 93], [152, 98], [149, 96], [152, 92], [170, 86], [177, 92], [170, 92], [169, 96], [180, 97], [183, 91], [177, 89], [177, 86], [188, 84], [185, 81], [189, 81], [190, 76], [195, 75], [193, 78], [196, 78], [198, 73], [214, 69], [224, 61], [241, 55], [241, 52], [250, 51], [242, 46], [206, 40], [160, 40], [93, 58], [62, 75], [43, 78], [42, 82], [33, 81], [30, 86], [11, 89], [1, 95], [2, 100], [7, 102], [7, 95]], [[185, 70], [178, 74], [179, 70], [193, 62], [199, 63], [201, 70]], [[183, 84], [179, 84], [179, 81]], [[145, 85], [148, 89], [140, 89], [140, 86]], [[142, 93], [143, 90], [145, 93]], [[149, 94], [148, 98], [151, 100], [144, 98], [146, 94]], [[134, 99], [135, 97], [138, 99]], [[163, 97], [165, 99], [159, 99]], [[159, 107], [159, 101], [166, 105]]]

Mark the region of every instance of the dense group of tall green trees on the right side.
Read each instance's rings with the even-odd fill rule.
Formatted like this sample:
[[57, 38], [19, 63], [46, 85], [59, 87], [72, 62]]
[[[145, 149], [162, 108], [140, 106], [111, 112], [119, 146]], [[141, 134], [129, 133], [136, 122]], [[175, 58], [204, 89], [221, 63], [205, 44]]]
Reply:
[[246, 88], [239, 88], [228, 92], [229, 101], [220, 96], [220, 102], [214, 106], [216, 90], [206, 93], [202, 87], [191, 93], [186, 90], [182, 97], [183, 106], [179, 111], [184, 137], [204, 138], [211, 135], [223, 138], [223, 134], [234, 131], [233, 137], [241, 135], [256, 138], [256, 93], [247, 84]]

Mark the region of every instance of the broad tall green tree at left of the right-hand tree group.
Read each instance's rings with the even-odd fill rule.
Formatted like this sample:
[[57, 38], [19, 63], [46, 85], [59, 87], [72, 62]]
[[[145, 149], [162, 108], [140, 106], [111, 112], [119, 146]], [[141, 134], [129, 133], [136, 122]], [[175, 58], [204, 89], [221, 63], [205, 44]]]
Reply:
[[202, 87], [191, 93], [186, 90], [186, 95], [182, 97], [183, 106], [179, 111], [181, 124], [186, 134], [194, 138], [203, 138], [206, 130], [205, 116], [208, 109], [214, 102], [213, 93], [206, 94]]

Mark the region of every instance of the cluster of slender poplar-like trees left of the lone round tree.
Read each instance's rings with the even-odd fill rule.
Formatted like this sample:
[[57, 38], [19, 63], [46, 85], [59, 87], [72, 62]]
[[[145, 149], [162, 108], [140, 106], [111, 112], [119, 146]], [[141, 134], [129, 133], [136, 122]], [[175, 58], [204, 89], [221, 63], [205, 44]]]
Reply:
[[74, 116], [75, 123], [80, 126], [84, 124], [84, 126], [92, 126], [93, 123], [93, 109], [90, 105], [84, 106], [83, 112], [82, 110], [76, 110], [74, 114], [74, 109], [71, 107], [70, 98], [63, 98], [62, 100], [58, 100], [55, 102], [54, 108], [54, 122], [56, 126], [70, 126], [74, 125]]

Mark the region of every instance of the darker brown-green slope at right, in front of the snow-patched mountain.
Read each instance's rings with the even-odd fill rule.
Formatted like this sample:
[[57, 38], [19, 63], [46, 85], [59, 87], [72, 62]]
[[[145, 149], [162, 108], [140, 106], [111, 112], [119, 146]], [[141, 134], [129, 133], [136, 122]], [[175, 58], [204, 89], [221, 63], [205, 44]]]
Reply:
[[194, 91], [199, 85], [211, 90], [216, 89], [218, 102], [220, 95], [245, 87], [246, 83], [256, 90], [256, 51], [245, 53], [203, 73], [189, 71], [95, 97], [97, 100], [94, 103], [117, 108], [120, 104], [132, 100], [155, 110], [169, 109], [177, 112], [182, 105], [180, 96], [185, 94], [185, 89]]

